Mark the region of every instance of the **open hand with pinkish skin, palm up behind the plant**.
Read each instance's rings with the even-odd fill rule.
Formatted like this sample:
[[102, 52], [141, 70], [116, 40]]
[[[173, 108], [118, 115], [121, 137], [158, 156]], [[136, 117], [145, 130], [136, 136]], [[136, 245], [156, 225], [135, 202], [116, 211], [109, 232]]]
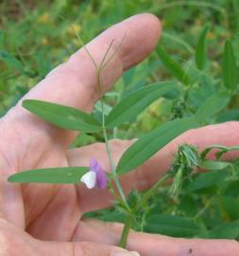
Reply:
[[[160, 33], [159, 20], [151, 14], [141, 14], [111, 27], [87, 46], [99, 63], [111, 40], [119, 42], [126, 34], [124, 44], [104, 70], [104, 91], [110, 89], [124, 70], [151, 52]], [[80, 49], [24, 99], [53, 101], [90, 112], [98, 99], [94, 64], [85, 50]], [[124, 175], [121, 180], [125, 191], [132, 186], [139, 190], [150, 187], [167, 170], [179, 143], [193, 143], [199, 148], [213, 143], [230, 146], [239, 141], [238, 127], [237, 122], [230, 122], [185, 133], [143, 166]], [[103, 256], [117, 250], [121, 225], [81, 220], [84, 212], [109, 206], [109, 192], [89, 191], [82, 185], [13, 185], [7, 181], [9, 174], [21, 170], [88, 166], [92, 156], [110, 170], [104, 144], [69, 151], [76, 134], [31, 115], [23, 109], [21, 101], [1, 119], [0, 134], [0, 255]], [[115, 161], [129, 144], [130, 141], [111, 141]], [[159, 162], [162, 162], [160, 170]], [[184, 240], [136, 232], [129, 235], [128, 249], [153, 256], [239, 254], [235, 241]]]

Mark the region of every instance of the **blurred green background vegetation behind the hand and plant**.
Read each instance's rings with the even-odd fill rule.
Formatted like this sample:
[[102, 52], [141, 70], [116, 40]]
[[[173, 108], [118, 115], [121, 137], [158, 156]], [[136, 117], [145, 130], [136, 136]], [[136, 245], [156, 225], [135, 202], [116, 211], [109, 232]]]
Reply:
[[[4, 115], [9, 107], [32, 86], [40, 82], [54, 66], [66, 61], [80, 47], [76, 31], [87, 43], [107, 27], [140, 12], [154, 13], [162, 20], [161, 46], [164, 46], [167, 54], [180, 64], [195, 86], [192, 86], [187, 98], [177, 100], [178, 94], [183, 92], [179, 84], [178, 94], [168, 95], [165, 99], [154, 102], [134, 124], [125, 124], [120, 129], [115, 129], [111, 137], [140, 136], [167, 119], [196, 113], [204, 101], [223, 87], [220, 81], [226, 40], [230, 40], [233, 46], [238, 67], [239, 1], [237, 0], [2, 1], [0, 2], [1, 115]], [[208, 43], [206, 72], [198, 71], [195, 64], [196, 45], [205, 25], [210, 26], [206, 35]], [[106, 96], [107, 107], [111, 109], [112, 104], [135, 88], [168, 79], [171, 80], [172, 76], [155, 51], [143, 64], [130, 69], [116, 83], [114, 90]], [[171, 101], [172, 99], [176, 101]], [[237, 93], [230, 98], [229, 105], [223, 111], [204, 123], [238, 119], [238, 102]], [[95, 109], [94, 114], [98, 115], [97, 105]], [[85, 134], [77, 138], [73, 146], [94, 142], [96, 139], [101, 137]], [[173, 236], [238, 238], [239, 198], [238, 192], [235, 191], [238, 179], [233, 179], [229, 184], [230, 189], [227, 190], [223, 186], [225, 180], [229, 178], [227, 174], [227, 172], [219, 175], [214, 172], [209, 173], [204, 178], [211, 180], [211, 183], [200, 185], [201, 187], [195, 190], [192, 186], [189, 190], [183, 190], [179, 202], [169, 198], [166, 193], [167, 188], [162, 188], [161, 195], [154, 198], [151, 206], [144, 211], [145, 216], [141, 218], [144, 223], [142, 222], [136, 229], [159, 231]], [[157, 225], [150, 227], [150, 223], [154, 223], [154, 220], [149, 214], [146, 221], [147, 212], [152, 214], [163, 212], [164, 215], [158, 216], [157, 221], [165, 223], [165, 227], [157, 228]], [[120, 212], [117, 211], [106, 210], [99, 214], [94, 213], [94, 216], [95, 214], [108, 221], [122, 220]]]

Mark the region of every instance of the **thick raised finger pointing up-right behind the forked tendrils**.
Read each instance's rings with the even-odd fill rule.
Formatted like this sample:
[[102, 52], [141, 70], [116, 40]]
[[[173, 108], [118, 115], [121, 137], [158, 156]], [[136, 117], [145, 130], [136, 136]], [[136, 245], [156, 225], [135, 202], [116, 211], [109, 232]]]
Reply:
[[[158, 18], [152, 14], [139, 14], [110, 27], [86, 46], [95, 62], [99, 64], [111, 41], [115, 42], [111, 48], [113, 52], [124, 34], [126, 35], [124, 43], [102, 74], [104, 92], [111, 88], [124, 70], [145, 59], [156, 46], [160, 32]], [[30, 90], [24, 100], [26, 99], [57, 102], [83, 111], [91, 111], [94, 102], [98, 100], [97, 76], [94, 63], [85, 49], [79, 49], [66, 63], [60, 64], [50, 72], [42, 82]], [[21, 106], [21, 101], [15, 107], [13, 114], [24, 120], [23, 125], [27, 126], [28, 137], [38, 134], [38, 138], [42, 139], [43, 137], [39, 137], [39, 131], [44, 130], [51, 137], [54, 134], [56, 139], [58, 132], [57, 138], [64, 137], [60, 140], [64, 145], [71, 143], [75, 137], [75, 133], [65, 133], [59, 129], [53, 133], [52, 126], [27, 112]]]

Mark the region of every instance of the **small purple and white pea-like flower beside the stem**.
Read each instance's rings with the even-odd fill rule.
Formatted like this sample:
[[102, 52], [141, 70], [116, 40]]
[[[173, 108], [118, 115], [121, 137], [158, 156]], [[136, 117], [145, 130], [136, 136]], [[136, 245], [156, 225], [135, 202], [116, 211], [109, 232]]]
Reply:
[[80, 178], [80, 181], [85, 183], [88, 189], [106, 189], [108, 179], [98, 161], [92, 158], [89, 171]]

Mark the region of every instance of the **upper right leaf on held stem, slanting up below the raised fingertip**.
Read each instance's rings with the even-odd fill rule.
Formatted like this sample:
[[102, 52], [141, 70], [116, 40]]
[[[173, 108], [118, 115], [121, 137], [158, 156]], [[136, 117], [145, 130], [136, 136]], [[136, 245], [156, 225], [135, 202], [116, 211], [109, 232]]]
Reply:
[[135, 119], [149, 104], [175, 87], [175, 82], [155, 82], [132, 92], [113, 107], [106, 118], [107, 127], [112, 128]]

